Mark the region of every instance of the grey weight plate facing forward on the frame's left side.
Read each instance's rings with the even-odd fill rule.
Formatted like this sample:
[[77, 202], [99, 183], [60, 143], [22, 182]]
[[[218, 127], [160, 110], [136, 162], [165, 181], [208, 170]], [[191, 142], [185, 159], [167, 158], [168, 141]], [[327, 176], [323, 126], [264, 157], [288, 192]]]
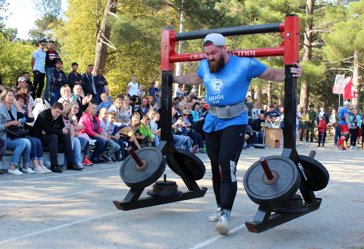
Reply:
[[166, 159], [155, 147], [144, 147], [135, 151], [140, 159], [146, 159], [145, 169], [136, 170], [135, 160], [129, 155], [120, 168], [120, 177], [132, 189], [143, 189], [157, 181], [166, 169]]

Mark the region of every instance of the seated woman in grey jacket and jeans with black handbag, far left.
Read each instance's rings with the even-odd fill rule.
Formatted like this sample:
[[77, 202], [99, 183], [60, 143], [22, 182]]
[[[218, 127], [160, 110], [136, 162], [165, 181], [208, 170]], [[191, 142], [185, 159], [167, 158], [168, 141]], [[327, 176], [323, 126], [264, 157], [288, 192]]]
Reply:
[[15, 100], [15, 91], [11, 88], [1, 92], [0, 99], [2, 102], [0, 104], [0, 138], [4, 138], [6, 140], [7, 150], [14, 151], [8, 173], [13, 175], [23, 175], [23, 173], [15, 167], [15, 165], [19, 162], [20, 155], [23, 153], [23, 172], [33, 174], [34, 171], [29, 167], [31, 142], [26, 138], [11, 139], [5, 131], [5, 128], [9, 128], [11, 126], [21, 126], [18, 119], [24, 117], [24, 111]]

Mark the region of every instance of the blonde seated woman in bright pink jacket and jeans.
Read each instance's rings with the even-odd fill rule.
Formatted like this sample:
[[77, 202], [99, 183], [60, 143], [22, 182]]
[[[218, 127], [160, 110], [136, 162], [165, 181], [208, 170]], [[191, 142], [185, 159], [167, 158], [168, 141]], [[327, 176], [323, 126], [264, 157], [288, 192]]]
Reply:
[[110, 140], [102, 133], [102, 128], [100, 127], [100, 120], [95, 116], [97, 112], [97, 105], [91, 103], [88, 105], [85, 113], [81, 116], [80, 122], [84, 125], [84, 129], [81, 133], [86, 133], [91, 139], [96, 140], [94, 153], [90, 158], [90, 161], [95, 164], [103, 163], [100, 156], [109, 147]]

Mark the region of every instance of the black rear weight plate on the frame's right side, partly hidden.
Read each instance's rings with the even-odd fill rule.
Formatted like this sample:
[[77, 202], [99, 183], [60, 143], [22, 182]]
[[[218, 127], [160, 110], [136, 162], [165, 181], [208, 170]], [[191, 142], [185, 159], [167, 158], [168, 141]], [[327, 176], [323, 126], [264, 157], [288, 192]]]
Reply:
[[[317, 160], [305, 155], [298, 155], [300, 164], [303, 167], [307, 181], [306, 187], [308, 190], [318, 191], [324, 189], [329, 183], [330, 175], [327, 169]], [[298, 169], [300, 166], [297, 163]]]

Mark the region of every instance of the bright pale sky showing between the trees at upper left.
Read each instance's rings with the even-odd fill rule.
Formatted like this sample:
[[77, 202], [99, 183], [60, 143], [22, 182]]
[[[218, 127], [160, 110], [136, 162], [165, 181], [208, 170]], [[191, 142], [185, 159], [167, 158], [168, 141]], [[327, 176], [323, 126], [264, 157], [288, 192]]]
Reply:
[[[28, 31], [35, 28], [34, 21], [41, 16], [35, 10], [35, 4], [32, 0], [11, 0], [8, 1], [8, 11], [1, 13], [1, 16], [8, 16], [4, 21], [6, 28], [17, 28], [17, 37], [21, 39], [28, 39]], [[63, 11], [67, 10], [67, 0], [63, 0]], [[11, 13], [11, 14], [10, 14]]]

